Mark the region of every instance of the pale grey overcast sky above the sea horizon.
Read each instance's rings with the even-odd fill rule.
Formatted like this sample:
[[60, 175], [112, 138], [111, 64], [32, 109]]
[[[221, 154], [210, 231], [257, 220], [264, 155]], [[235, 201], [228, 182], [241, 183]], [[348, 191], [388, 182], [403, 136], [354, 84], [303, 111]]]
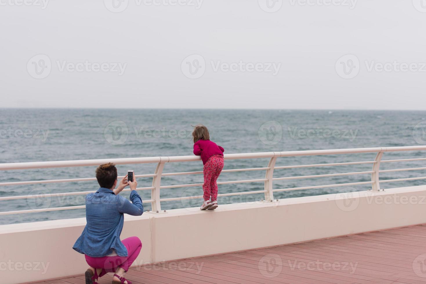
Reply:
[[200, 1], [0, 0], [0, 107], [426, 109], [425, 0]]

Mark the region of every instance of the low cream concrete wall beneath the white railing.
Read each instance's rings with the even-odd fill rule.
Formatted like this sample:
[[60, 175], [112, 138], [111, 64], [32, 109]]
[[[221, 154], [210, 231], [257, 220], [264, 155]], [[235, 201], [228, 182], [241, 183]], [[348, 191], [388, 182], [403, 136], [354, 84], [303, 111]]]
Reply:
[[[141, 265], [423, 224], [425, 213], [426, 186], [414, 186], [126, 215], [121, 238], [141, 238], [134, 263]], [[0, 226], [1, 283], [84, 273], [84, 256], [72, 250], [84, 225], [85, 218]]]

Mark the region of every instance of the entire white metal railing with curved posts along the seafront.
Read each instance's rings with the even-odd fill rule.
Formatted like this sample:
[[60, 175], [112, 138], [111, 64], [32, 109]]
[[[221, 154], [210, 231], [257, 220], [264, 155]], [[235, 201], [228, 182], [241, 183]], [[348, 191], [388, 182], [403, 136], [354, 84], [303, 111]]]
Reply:
[[[248, 191], [248, 192], [233, 192], [223, 193], [218, 196], [231, 196], [231, 195], [245, 195], [245, 194], [265, 194], [265, 201], [273, 201], [274, 192], [284, 192], [301, 189], [318, 189], [326, 187], [336, 186], [355, 186], [363, 184], [371, 184], [371, 190], [378, 192], [380, 191], [380, 183], [383, 182], [395, 182], [395, 181], [411, 181], [426, 179], [426, 177], [414, 177], [414, 178], [397, 178], [389, 180], [379, 180], [379, 174], [381, 172], [400, 172], [400, 171], [413, 171], [423, 170], [426, 167], [418, 168], [406, 168], [406, 169], [387, 169], [380, 170], [381, 163], [389, 162], [402, 162], [402, 161], [426, 161], [426, 158], [412, 158], [412, 159], [399, 159], [399, 160], [382, 160], [384, 152], [399, 152], [399, 151], [418, 151], [426, 150], [426, 146], [405, 146], [405, 147], [378, 147], [378, 148], [357, 148], [357, 149], [333, 149], [333, 150], [313, 150], [313, 151], [289, 151], [289, 152], [264, 152], [264, 153], [244, 153], [244, 154], [226, 154], [225, 160], [233, 159], [253, 159], [253, 158], [270, 158], [268, 166], [259, 168], [248, 168], [248, 169], [225, 169], [222, 172], [246, 172], [246, 171], [265, 171], [265, 178], [249, 179], [249, 180], [237, 180], [237, 181], [220, 181], [218, 184], [239, 184], [239, 183], [252, 183], [252, 182], [263, 182], [265, 184], [264, 190]], [[360, 162], [345, 162], [345, 163], [331, 163], [331, 164], [309, 164], [309, 165], [294, 165], [294, 166], [275, 166], [277, 158], [279, 157], [291, 157], [291, 156], [311, 156], [311, 155], [334, 155], [334, 154], [356, 154], [356, 153], [377, 153], [374, 161], [360, 161]], [[51, 161], [51, 162], [29, 162], [29, 163], [9, 163], [0, 164], [0, 170], [17, 170], [17, 169], [40, 169], [40, 168], [58, 168], [58, 167], [78, 167], [78, 166], [98, 166], [112, 162], [117, 165], [121, 164], [153, 164], [156, 163], [155, 172], [153, 174], [146, 175], [135, 175], [136, 178], [153, 178], [152, 186], [138, 187], [136, 190], [151, 190], [151, 199], [143, 200], [144, 203], [151, 203], [153, 212], [161, 211], [161, 202], [166, 201], [177, 201], [185, 199], [202, 198], [199, 196], [186, 196], [176, 198], [161, 198], [161, 189], [169, 188], [181, 188], [191, 186], [202, 186], [201, 183], [197, 184], [176, 184], [176, 185], [161, 185], [161, 177], [172, 176], [172, 175], [199, 175], [202, 171], [197, 172], [169, 172], [163, 173], [165, 163], [176, 163], [176, 162], [193, 162], [201, 160], [199, 156], [172, 156], [172, 157], [147, 157], [147, 158], [122, 158], [122, 159], [100, 159], [100, 160], [81, 160], [81, 161]], [[345, 165], [359, 165], [359, 164], [372, 164], [371, 171], [363, 172], [343, 172], [343, 173], [332, 173], [325, 175], [301, 175], [291, 177], [273, 177], [274, 169], [297, 169], [306, 167], [322, 167], [322, 166], [345, 166]], [[273, 181], [282, 180], [294, 180], [294, 179], [309, 179], [309, 178], [322, 178], [322, 177], [333, 177], [333, 176], [346, 176], [346, 175], [370, 175], [371, 181], [361, 181], [343, 184], [325, 184], [316, 186], [302, 186], [292, 188], [273, 189]], [[122, 178], [122, 176], [118, 177]], [[63, 182], [75, 182], [75, 181], [95, 181], [96, 178], [69, 178], [69, 179], [57, 179], [47, 181], [18, 181], [18, 182], [4, 182], [0, 183], [0, 186], [11, 186], [11, 185], [26, 185], [26, 184], [50, 184], [50, 183], [63, 183]], [[124, 189], [123, 191], [130, 191], [130, 189]], [[0, 197], [0, 201], [6, 200], [17, 200], [27, 198], [49, 198], [49, 197], [63, 197], [69, 195], [85, 195], [95, 191], [83, 191], [83, 192], [63, 192], [63, 193], [51, 193], [43, 195], [20, 195], [20, 196], [5, 196]], [[55, 207], [55, 208], [42, 208], [42, 209], [29, 209], [29, 210], [18, 210], [18, 211], [6, 211], [0, 212], [0, 215], [20, 214], [20, 213], [31, 213], [31, 212], [47, 212], [57, 210], [68, 210], [68, 209], [81, 209], [85, 208], [84, 205], [80, 206], [68, 206], [68, 207]]]

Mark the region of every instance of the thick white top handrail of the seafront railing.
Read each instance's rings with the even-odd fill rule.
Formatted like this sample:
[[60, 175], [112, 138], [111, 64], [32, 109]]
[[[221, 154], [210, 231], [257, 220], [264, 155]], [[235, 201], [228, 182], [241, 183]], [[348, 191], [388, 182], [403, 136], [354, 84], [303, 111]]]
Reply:
[[[308, 150], [308, 151], [286, 151], [286, 152], [261, 152], [261, 153], [241, 153], [225, 154], [224, 158], [250, 159], [250, 158], [271, 158], [288, 156], [311, 156], [311, 155], [334, 155], [334, 154], [355, 154], [371, 152], [396, 152], [396, 151], [418, 151], [426, 150], [426, 146], [403, 146], [403, 147], [375, 147], [375, 148], [354, 148], [354, 149], [330, 149], [330, 150]], [[49, 161], [49, 162], [26, 162], [26, 163], [6, 163], [0, 164], [0, 170], [12, 169], [40, 169], [73, 166], [98, 166], [100, 164], [147, 164], [147, 163], [173, 163], [200, 161], [199, 156], [171, 156], [171, 157], [141, 157], [141, 158], [118, 158], [118, 159], [98, 159], [98, 160], [77, 160], [77, 161]]]

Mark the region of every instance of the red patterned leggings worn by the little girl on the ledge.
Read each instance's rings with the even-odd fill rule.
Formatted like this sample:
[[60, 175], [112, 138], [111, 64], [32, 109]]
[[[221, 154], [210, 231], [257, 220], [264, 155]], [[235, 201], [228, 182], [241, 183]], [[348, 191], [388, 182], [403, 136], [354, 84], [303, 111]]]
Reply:
[[204, 165], [204, 201], [217, 200], [217, 183], [216, 180], [222, 172], [223, 169], [223, 156], [222, 155], [213, 155], [211, 156], [206, 164]]

